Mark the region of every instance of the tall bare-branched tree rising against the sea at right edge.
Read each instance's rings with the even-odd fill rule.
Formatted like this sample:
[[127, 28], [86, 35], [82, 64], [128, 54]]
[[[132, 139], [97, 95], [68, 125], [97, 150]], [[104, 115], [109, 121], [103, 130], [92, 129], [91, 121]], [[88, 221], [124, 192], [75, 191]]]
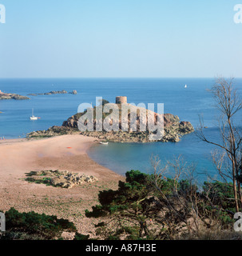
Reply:
[[[212, 86], [212, 95], [216, 107], [220, 110], [218, 126], [220, 130], [220, 142], [214, 142], [204, 134], [203, 120], [200, 118], [200, 126], [196, 129], [196, 135], [203, 142], [216, 146], [220, 151], [213, 155], [216, 169], [224, 180], [232, 180], [232, 188], [236, 211], [242, 208], [241, 194], [241, 128], [236, 126], [235, 118], [242, 109], [242, 101], [234, 88], [234, 78], [217, 78]], [[238, 198], [239, 197], [239, 198]]]

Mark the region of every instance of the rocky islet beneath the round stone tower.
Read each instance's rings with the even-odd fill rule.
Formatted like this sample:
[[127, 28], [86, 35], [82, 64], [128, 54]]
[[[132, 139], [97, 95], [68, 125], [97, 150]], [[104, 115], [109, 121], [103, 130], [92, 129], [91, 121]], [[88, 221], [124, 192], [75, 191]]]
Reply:
[[[53, 126], [50, 127], [48, 130], [40, 130], [40, 131], [35, 131], [33, 133], [27, 134], [28, 138], [44, 138], [44, 137], [53, 137], [53, 136], [58, 136], [62, 134], [75, 134], [79, 133], [85, 136], [101, 139], [101, 140], [107, 140], [110, 142], [150, 142], [149, 140], [149, 135], [152, 134], [151, 132], [147, 131], [141, 131], [140, 126], [141, 126], [141, 108], [137, 108], [137, 106], [133, 106], [127, 102], [120, 102], [120, 98], [117, 98], [116, 104], [114, 103], [106, 103], [109, 104], [110, 107], [113, 105], [118, 106], [119, 108], [119, 130], [118, 131], [96, 131], [96, 111], [97, 110], [103, 110], [104, 105], [101, 106], [94, 106], [93, 107], [93, 113], [94, 113], [94, 118], [93, 118], [93, 126], [94, 126], [94, 131], [79, 131], [78, 130], [78, 120], [86, 114], [85, 110], [82, 113], [77, 113], [74, 114], [72, 117], [68, 118], [66, 121], [63, 122], [62, 126]], [[127, 113], [127, 122], [128, 122], [128, 130], [123, 131], [121, 130], [121, 107], [126, 107], [129, 109]], [[137, 130], [133, 131], [132, 126], [130, 124], [130, 110], [136, 111], [137, 112]], [[148, 118], [149, 115], [153, 115], [155, 122], [157, 121], [157, 113], [151, 111], [151, 110], [146, 110], [146, 118]], [[112, 118], [109, 119], [109, 113], [103, 113], [102, 114], [102, 121], [104, 119], [108, 119], [108, 122], [113, 122]], [[181, 121], [179, 117], [174, 116], [173, 114], [164, 114], [164, 136], [160, 140], [157, 140], [155, 142], [179, 142], [181, 140], [181, 137], [184, 134], [189, 134], [194, 131], [194, 128], [190, 122], [184, 122]]]

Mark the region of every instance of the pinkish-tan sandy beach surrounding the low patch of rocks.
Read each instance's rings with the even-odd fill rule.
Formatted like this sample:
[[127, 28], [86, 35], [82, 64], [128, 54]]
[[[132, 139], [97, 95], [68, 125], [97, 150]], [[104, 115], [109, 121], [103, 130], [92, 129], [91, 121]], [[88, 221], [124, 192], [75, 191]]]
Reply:
[[[79, 134], [0, 141], [0, 210], [14, 207], [20, 212], [54, 214], [74, 222], [81, 234], [95, 237], [97, 220], [85, 218], [85, 209], [98, 204], [100, 190], [117, 189], [125, 178], [88, 157], [86, 151], [94, 141]], [[98, 181], [68, 190], [26, 182], [31, 170], [69, 170], [93, 175]]]

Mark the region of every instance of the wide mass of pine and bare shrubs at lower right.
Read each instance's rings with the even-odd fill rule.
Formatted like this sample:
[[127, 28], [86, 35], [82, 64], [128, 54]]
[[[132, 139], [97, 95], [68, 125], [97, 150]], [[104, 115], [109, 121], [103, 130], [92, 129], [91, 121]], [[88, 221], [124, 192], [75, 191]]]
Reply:
[[101, 239], [199, 238], [201, 230], [232, 229], [236, 208], [231, 195], [230, 184], [204, 182], [199, 191], [189, 180], [131, 170], [117, 190], [101, 191], [100, 205], [85, 215], [106, 217], [96, 225]]

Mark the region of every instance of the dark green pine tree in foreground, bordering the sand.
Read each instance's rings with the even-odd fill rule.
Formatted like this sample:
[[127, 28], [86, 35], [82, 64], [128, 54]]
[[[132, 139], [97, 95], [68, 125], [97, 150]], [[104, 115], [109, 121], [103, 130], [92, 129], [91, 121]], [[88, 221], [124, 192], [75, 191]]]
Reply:
[[[113, 226], [107, 230], [107, 223], [101, 222], [96, 227], [97, 234], [108, 239], [119, 239], [123, 234], [129, 238], [149, 237], [147, 220], [153, 218], [156, 211], [153, 204], [153, 186], [148, 174], [138, 170], [126, 173], [126, 182], [119, 182], [118, 190], [104, 190], [99, 196], [101, 205], [93, 206], [93, 210], [85, 211], [89, 218], [109, 217]], [[113, 223], [113, 224], [112, 224]], [[114, 228], [115, 227], [115, 228]]]

